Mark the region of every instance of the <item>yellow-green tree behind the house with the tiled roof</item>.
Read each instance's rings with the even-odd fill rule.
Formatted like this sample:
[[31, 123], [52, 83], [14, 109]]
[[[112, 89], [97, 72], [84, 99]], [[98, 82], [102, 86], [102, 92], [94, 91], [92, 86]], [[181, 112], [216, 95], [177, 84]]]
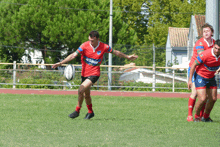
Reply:
[[205, 14], [204, 0], [151, 0], [146, 5], [148, 29], [145, 45], [156, 46], [156, 65], [165, 66], [168, 27], [189, 28], [191, 15]]

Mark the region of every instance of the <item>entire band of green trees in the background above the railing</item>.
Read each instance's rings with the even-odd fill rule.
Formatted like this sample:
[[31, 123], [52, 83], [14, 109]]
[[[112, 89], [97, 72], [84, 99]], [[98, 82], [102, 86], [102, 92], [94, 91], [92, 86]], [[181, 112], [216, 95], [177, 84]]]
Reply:
[[[58, 62], [88, 40], [91, 30], [109, 41], [109, 0], [0, 2], [1, 62], [21, 62], [25, 49], [40, 50], [45, 63]], [[154, 44], [156, 65], [165, 66], [168, 27], [189, 27], [194, 14], [205, 14], [204, 0], [113, 0], [113, 48], [138, 54], [136, 65], [152, 66]], [[113, 56], [114, 65], [125, 63]]]

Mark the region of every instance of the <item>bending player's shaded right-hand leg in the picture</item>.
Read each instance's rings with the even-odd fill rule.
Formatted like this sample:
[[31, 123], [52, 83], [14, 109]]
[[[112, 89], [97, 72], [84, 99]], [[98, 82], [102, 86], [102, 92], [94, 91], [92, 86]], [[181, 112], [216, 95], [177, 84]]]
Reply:
[[206, 104], [205, 112], [202, 117], [203, 122], [212, 122], [212, 119], [210, 118], [210, 113], [212, 111], [212, 108], [217, 101], [217, 89], [208, 89], [208, 102]]

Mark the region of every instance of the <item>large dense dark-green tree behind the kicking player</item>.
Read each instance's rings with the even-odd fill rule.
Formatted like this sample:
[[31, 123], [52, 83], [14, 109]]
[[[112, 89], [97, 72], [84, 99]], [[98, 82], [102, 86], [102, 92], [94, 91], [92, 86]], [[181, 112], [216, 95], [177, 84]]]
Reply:
[[[58, 62], [75, 51], [88, 40], [91, 30], [99, 31], [102, 42], [109, 40], [109, 0], [12, 0], [2, 3], [0, 12], [4, 12], [0, 18], [1, 44], [40, 49], [45, 63]], [[121, 14], [114, 13], [113, 43], [134, 44], [135, 36]], [[78, 56], [75, 63], [79, 62]]]

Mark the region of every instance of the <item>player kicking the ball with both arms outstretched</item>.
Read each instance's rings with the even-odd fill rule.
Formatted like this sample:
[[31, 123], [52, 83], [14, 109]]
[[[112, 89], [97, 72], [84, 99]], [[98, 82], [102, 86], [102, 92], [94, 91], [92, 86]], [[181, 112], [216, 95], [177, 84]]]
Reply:
[[102, 63], [103, 55], [105, 53], [113, 53], [116, 56], [129, 60], [134, 60], [138, 57], [134, 54], [125, 55], [118, 50], [113, 50], [109, 45], [99, 41], [98, 31], [91, 31], [89, 33], [89, 41], [84, 42], [74, 53], [67, 56], [63, 61], [52, 66], [52, 68], [61, 66], [62, 64], [76, 58], [78, 54], [81, 54], [82, 71], [81, 85], [78, 89], [78, 104], [75, 111], [69, 115], [70, 118], [76, 118], [79, 116], [84, 98], [88, 108], [88, 113], [86, 114], [85, 119], [94, 117], [95, 114], [92, 108], [90, 88], [99, 79], [100, 64]]

